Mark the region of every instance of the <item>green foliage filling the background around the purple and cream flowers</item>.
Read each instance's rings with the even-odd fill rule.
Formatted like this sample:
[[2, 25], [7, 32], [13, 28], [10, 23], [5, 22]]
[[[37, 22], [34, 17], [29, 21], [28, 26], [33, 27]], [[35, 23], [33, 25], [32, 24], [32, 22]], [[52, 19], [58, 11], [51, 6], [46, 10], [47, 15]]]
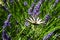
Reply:
[[[24, 5], [24, 2], [27, 5]], [[32, 3], [35, 5], [39, 0], [6, 0], [3, 4], [0, 4], [0, 40], [2, 40], [2, 31], [4, 21], [7, 19], [8, 14], [12, 14], [10, 18], [10, 26], [7, 26], [7, 34], [12, 40], [42, 40], [43, 37], [50, 32], [54, 31], [54, 34], [49, 40], [58, 40], [60, 37], [56, 36], [60, 34], [60, 1], [55, 3], [55, 0], [45, 0], [40, 7], [39, 18], [45, 20], [46, 15], [50, 15], [50, 19], [46, 24], [34, 25], [29, 23], [29, 26], [25, 25], [26, 18], [29, 18], [28, 9]], [[4, 6], [7, 8], [5, 9]]]

